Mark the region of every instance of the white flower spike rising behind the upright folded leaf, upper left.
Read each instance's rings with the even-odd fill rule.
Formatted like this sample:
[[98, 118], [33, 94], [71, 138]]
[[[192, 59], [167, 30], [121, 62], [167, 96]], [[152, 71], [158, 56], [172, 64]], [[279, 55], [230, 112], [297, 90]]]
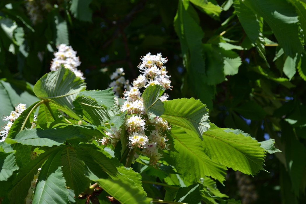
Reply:
[[70, 69], [74, 72], [77, 77], [85, 79], [83, 72], [77, 69], [81, 62], [79, 57], [76, 57], [76, 51], [71, 46], [60, 44], [57, 46], [58, 51], [54, 53], [54, 59], [51, 62], [51, 71], [56, 71], [63, 65], [65, 68]]

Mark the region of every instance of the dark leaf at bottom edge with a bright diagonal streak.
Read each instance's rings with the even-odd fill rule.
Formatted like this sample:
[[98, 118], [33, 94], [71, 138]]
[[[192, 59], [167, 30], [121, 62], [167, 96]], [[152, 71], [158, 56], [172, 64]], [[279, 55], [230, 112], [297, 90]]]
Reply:
[[193, 184], [188, 187], [182, 187], [177, 191], [176, 194], [177, 202], [201, 203], [200, 185]]

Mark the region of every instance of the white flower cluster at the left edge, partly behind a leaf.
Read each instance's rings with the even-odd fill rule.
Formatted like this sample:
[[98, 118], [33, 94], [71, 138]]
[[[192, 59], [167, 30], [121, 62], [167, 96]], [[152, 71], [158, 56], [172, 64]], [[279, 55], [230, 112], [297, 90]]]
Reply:
[[[9, 133], [9, 129], [12, 127], [13, 122], [20, 116], [20, 114], [27, 109], [26, 108], [26, 104], [24, 103], [20, 103], [18, 104], [18, 106], [15, 106], [15, 110], [12, 111], [9, 116], [4, 116], [4, 118], [2, 118], [2, 121], [8, 121], [7, 124], [4, 126], [4, 128], [1, 129], [0, 131], [0, 136], [1, 141], [4, 141], [6, 139], [6, 136]], [[37, 116], [34, 115], [34, 120], [36, 120]], [[35, 128], [36, 124], [32, 123], [32, 127], [31, 128]]]

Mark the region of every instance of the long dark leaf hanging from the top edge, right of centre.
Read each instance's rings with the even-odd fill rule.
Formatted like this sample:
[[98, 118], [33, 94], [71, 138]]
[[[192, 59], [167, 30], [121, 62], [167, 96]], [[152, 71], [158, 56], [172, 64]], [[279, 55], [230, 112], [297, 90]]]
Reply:
[[[174, 18], [174, 29], [180, 39], [183, 63], [187, 69], [187, 79], [183, 83], [186, 94], [194, 91], [197, 98], [212, 108], [213, 86], [207, 84], [202, 39], [204, 32], [200, 18], [188, 1], [179, 1]], [[196, 76], [196, 77], [194, 77]]]

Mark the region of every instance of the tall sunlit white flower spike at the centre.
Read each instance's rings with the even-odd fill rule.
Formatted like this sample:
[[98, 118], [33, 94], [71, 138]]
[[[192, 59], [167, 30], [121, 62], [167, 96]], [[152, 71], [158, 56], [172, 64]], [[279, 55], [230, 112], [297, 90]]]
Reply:
[[[170, 76], [167, 75], [166, 67], [163, 66], [167, 59], [163, 58], [161, 54], [151, 55], [148, 53], [141, 59], [142, 63], [138, 68], [142, 74], [133, 81], [133, 87], [130, 90], [124, 91], [125, 102], [121, 106], [121, 111], [127, 111], [128, 113], [124, 124], [129, 139], [127, 145], [131, 149], [137, 147], [143, 149], [144, 154], [150, 157], [150, 163], [156, 165], [162, 157], [159, 150], [168, 148], [165, 131], [170, 130], [170, 127], [167, 121], [161, 117], [149, 120], [145, 112], [140, 89], [155, 84], [165, 89], [171, 89], [171, 81], [169, 80]], [[119, 74], [112, 75], [113, 78], [118, 76]], [[166, 101], [168, 97], [169, 95], [164, 94], [160, 97], [160, 100]], [[111, 132], [106, 133], [108, 137], [103, 137], [100, 141], [102, 144], [107, 144], [109, 140], [120, 139], [120, 132], [114, 130]], [[115, 138], [110, 135], [114, 135], [115, 132], [119, 137]]]

